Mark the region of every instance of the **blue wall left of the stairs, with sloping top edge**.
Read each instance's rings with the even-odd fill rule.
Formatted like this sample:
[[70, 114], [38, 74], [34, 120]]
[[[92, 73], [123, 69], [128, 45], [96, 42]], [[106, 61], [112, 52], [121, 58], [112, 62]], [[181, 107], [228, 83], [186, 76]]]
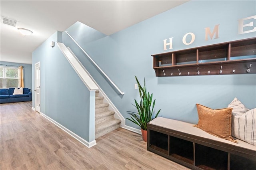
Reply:
[[[32, 53], [33, 70], [34, 64], [40, 62], [40, 112], [91, 142], [89, 137], [90, 91], [56, 43], [54, 47], [50, 47], [52, 41], [61, 41], [61, 34], [56, 32]], [[34, 105], [33, 95], [33, 107]]]

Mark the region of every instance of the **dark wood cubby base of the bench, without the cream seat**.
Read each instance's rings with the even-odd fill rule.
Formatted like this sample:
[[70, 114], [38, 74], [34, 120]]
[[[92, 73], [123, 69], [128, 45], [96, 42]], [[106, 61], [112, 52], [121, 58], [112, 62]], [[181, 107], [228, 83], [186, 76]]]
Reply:
[[256, 153], [148, 124], [147, 150], [198, 170], [255, 170]]

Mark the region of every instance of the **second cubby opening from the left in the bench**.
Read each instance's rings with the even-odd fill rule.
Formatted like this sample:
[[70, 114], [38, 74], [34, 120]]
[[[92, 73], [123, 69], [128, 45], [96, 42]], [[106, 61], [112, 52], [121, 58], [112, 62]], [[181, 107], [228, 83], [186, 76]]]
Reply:
[[193, 142], [170, 136], [170, 156], [193, 165]]

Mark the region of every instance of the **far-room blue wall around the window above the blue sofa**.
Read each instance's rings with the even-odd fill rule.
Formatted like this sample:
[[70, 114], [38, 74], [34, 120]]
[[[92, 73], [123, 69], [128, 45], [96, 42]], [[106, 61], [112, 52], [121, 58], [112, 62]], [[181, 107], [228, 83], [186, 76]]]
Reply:
[[[0, 64], [3, 67], [12, 67], [8, 65], [16, 65], [16, 66], [24, 66], [23, 73], [24, 73], [24, 87], [32, 89], [32, 65], [31, 64], [23, 64], [23, 63], [12, 63], [12, 62], [6, 62], [6, 61], [0, 61]], [[7, 66], [5, 66], [7, 65]]]

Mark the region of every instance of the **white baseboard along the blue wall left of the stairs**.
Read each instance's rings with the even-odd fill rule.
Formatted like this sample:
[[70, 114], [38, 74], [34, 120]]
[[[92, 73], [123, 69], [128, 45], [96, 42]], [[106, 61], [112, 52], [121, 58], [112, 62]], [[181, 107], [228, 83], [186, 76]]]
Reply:
[[61, 128], [65, 132], [67, 132], [70, 136], [72, 136], [73, 138], [75, 138], [76, 140], [78, 140], [79, 142], [81, 142], [82, 144], [87, 146], [88, 148], [96, 145], [96, 140], [93, 140], [92, 142], [88, 142], [88, 141], [84, 140], [83, 138], [81, 138], [80, 136], [78, 136], [77, 134], [75, 134], [74, 132], [70, 131], [68, 128], [60, 125], [58, 122], [56, 122], [53, 119], [51, 119], [50, 117], [46, 116], [44, 113], [40, 112], [40, 115], [42, 115], [44, 118], [48, 119], [50, 122], [52, 122], [57, 127]]

